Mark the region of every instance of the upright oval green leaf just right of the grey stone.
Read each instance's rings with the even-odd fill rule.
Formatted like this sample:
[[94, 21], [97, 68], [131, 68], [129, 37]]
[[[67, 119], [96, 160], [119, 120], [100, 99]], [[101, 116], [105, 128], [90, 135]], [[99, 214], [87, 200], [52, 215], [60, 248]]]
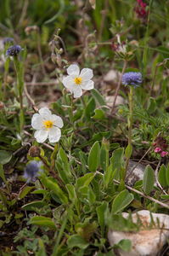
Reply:
[[153, 172], [153, 169], [151, 166], [146, 166], [144, 171], [144, 180], [143, 180], [143, 186], [144, 186], [144, 193], [149, 194], [151, 190], [153, 189], [155, 183], [155, 174]]

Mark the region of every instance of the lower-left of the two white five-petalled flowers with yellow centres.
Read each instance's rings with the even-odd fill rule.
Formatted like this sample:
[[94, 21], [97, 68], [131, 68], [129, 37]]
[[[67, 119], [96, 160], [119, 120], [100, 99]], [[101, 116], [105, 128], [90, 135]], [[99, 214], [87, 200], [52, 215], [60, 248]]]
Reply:
[[34, 113], [31, 119], [31, 126], [37, 130], [34, 134], [37, 143], [44, 143], [47, 138], [50, 143], [57, 143], [61, 137], [59, 128], [63, 125], [63, 120], [48, 108], [39, 109], [39, 113]]

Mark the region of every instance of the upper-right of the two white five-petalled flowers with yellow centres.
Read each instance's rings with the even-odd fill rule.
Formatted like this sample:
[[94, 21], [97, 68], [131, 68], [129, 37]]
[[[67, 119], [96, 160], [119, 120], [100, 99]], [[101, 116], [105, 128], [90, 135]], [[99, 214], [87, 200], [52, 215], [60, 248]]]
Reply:
[[62, 83], [66, 88], [70, 88], [70, 92], [74, 93], [74, 98], [82, 96], [83, 90], [92, 90], [94, 88], [93, 70], [91, 68], [80, 69], [77, 65], [70, 65], [67, 68], [68, 76], [63, 79]]

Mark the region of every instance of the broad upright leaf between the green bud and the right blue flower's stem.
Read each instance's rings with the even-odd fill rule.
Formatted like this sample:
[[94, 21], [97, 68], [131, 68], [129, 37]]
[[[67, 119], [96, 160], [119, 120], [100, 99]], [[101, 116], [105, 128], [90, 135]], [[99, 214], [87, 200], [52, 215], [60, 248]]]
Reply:
[[118, 180], [120, 177], [120, 171], [123, 163], [123, 156], [124, 156], [124, 148], [117, 148], [110, 158], [110, 163], [112, 164], [113, 172], [115, 172], [115, 179]]

